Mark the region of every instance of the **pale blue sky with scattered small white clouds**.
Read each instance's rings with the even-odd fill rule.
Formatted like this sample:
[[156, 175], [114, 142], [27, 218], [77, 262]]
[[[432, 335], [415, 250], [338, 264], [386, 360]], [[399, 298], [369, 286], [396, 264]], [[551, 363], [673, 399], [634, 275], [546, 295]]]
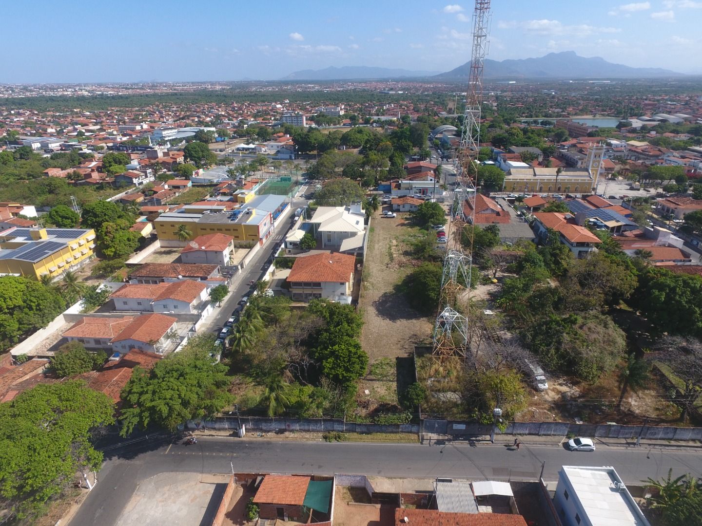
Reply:
[[[475, 4], [427, 0], [6, 2], [3, 83], [279, 79], [299, 69], [444, 72]], [[494, 0], [488, 58], [573, 50], [702, 74], [702, 0]]]

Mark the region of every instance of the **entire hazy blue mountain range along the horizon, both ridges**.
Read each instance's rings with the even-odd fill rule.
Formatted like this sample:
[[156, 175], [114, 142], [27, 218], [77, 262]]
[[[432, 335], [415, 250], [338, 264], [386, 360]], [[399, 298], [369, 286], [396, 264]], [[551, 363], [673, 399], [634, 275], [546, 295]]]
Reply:
[[[332, 81], [352, 79], [430, 78], [437, 80], [467, 79], [470, 62], [450, 72], [410, 71], [387, 67], [344, 66], [325, 69], [304, 69], [284, 76], [285, 81]], [[485, 60], [485, 79], [656, 79], [683, 76], [682, 73], [658, 67], [630, 67], [607, 62], [600, 57], [581, 57], [575, 51], [548, 53], [538, 58], [517, 60]]]

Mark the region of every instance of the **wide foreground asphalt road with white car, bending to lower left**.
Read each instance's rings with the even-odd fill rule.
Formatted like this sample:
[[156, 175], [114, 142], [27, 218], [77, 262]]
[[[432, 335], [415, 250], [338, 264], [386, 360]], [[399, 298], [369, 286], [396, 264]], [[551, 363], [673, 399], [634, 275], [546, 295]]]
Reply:
[[[511, 443], [511, 441], [510, 441]], [[569, 452], [562, 446], [522, 445], [508, 450], [505, 441], [461, 445], [360, 444], [239, 440], [202, 437], [197, 445], [180, 441], [143, 442], [111, 450], [98, 485], [70, 522], [74, 526], [114, 525], [142, 480], [159, 473], [355, 473], [369, 476], [470, 480], [536, 480], [545, 461], [543, 478], [557, 480], [557, 471], [568, 466], [614, 466], [625, 483], [659, 478], [673, 468], [702, 475], [702, 452], [661, 451], [597, 445], [595, 452]], [[107, 456], [107, 454], [106, 454]], [[231, 464], [230, 464], [231, 463]], [[174, 495], [173, 499], [187, 498]]]

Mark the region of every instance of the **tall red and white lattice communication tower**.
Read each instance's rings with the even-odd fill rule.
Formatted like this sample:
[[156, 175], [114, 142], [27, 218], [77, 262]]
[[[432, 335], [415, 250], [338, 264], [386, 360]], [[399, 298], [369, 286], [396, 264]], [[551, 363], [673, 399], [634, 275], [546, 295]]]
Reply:
[[[468, 90], [461, 128], [461, 147], [456, 155], [456, 189], [451, 204], [451, 219], [446, 231], [446, 256], [442, 273], [439, 309], [433, 333], [433, 355], [439, 360], [465, 359], [468, 356], [468, 317], [458, 309], [464, 292], [470, 296], [472, 271], [478, 144], [482, 112], [483, 66], [488, 46], [490, 0], [476, 0], [473, 11], [473, 45]], [[461, 243], [461, 238], [465, 243]]]

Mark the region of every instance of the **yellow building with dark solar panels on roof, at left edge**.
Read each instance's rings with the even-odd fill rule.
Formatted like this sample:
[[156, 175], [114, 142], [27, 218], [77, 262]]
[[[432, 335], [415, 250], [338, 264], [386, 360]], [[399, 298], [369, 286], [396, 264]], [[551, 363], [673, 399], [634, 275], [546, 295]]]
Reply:
[[0, 274], [60, 276], [86, 263], [94, 250], [93, 229], [8, 229], [0, 232]]

